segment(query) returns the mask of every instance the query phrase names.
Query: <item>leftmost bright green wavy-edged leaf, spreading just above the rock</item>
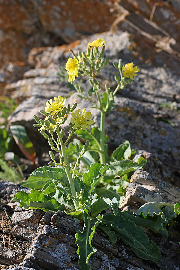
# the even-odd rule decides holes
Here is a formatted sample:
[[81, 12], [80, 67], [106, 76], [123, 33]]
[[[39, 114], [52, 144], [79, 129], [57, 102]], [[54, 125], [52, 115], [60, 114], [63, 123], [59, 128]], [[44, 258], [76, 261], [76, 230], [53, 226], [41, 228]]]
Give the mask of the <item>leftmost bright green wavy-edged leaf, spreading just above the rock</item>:
[[44, 195], [42, 191], [32, 189], [29, 193], [20, 190], [17, 192], [13, 200], [20, 202], [19, 206], [25, 209], [42, 209], [56, 212], [57, 210], [64, 211], [66, 208], [59, 204], [58, 201], [51, 196]]

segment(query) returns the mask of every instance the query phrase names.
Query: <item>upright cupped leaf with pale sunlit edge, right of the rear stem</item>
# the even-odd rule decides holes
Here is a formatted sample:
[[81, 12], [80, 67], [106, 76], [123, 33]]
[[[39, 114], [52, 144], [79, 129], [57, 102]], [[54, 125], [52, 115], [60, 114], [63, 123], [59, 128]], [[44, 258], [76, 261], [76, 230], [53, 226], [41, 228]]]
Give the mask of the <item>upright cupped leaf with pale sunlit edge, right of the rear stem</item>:
[[127, 160], [131, 157], [131, 145], [129, 141], [120, 144], [111, 155], [111, 161]]

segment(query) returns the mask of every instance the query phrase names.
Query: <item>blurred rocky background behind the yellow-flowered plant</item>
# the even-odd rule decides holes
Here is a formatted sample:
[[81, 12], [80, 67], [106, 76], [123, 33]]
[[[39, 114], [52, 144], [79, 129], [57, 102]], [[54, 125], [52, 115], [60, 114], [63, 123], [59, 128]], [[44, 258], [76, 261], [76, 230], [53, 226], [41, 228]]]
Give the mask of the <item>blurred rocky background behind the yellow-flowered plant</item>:
[[[129, 140], [132, 148], [156, 155], [169, 181], [180, 186], [179, 26], [179, 0], [1, 0], [0, 93], [19, 103], [10, 125], [26, 127], [39, 158], [47, 153], [32, 116], [40, 116], [46, 100], [58, 95], [91, 107], [76, 93], [70, 96], [57, 73], [71, 57], [69, 49], [86, 50], [86, 38], [104, 38], [110, 64], [100, 74], [102, 88], [115, 86], [112, 62], [119, 58], [141, 69], [107, 116], [110, 148]], [[85, 77], [82, 87], [88, 88]], [[92, 114], [98, 125], [99, 113]]]

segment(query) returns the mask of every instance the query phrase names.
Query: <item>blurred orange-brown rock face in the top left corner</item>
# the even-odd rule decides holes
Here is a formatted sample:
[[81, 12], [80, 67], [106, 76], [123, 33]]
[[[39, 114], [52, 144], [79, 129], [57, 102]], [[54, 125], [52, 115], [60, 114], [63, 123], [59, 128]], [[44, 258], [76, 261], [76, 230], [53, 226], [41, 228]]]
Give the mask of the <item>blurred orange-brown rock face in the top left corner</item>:
[[58, 46], [104, 32], [115, 20], [113, 1], [1, 0], [0, 66], [26, 61], [33, 47]]

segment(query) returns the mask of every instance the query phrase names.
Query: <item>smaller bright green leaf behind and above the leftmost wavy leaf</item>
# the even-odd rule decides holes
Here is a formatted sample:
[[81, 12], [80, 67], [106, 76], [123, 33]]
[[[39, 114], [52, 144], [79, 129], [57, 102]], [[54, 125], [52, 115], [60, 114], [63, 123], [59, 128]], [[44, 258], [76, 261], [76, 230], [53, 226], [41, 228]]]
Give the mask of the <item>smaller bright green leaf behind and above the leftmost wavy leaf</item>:
[[21, 182], [19, 184], [23, 187], [41, 190], [47, 182], [49, 182], [48, 177], [29, 176], [29, 178], [25, 182]]

